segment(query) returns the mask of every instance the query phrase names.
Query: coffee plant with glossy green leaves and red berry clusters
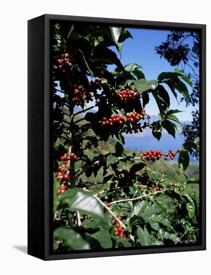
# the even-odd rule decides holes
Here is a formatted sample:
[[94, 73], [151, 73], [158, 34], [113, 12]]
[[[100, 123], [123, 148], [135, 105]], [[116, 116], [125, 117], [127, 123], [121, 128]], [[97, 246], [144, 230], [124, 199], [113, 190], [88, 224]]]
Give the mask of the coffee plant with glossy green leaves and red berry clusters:
[[[130, 37], [124, 27], [54, 24], [54, 251], [198, 241], [198, 196], [185, 191], [198, 178], [184, 174], [181, 182], [169, 181], [164, 172], [155, 178], [148, 167], [178, 155], [178, 172], [183, 173], [189, 152], [199, 151], [198, 138], [176, 151], [149, 148], [128, 155], [124, 148], [125, 134], [139, 133], [141, 142], [145, 129], [157, 140], [163, 129], [175, 137], [180, 110], [170, 109], [166, 87], [176, 100], [180, 94], [188, 102], [186, 85], [192, 87], [192, 82], [177, 68], [146, 80], [140, 65], [122, 65], [113, 48], [121, 54]], [[116, 66], [112, 72], [110, 64]], [[159, 109], [157, 121], [151, 121], [147, 111], [149, 95]], [[115, 142], [110, 152], [97, 151], [109, 140]], [[96, 152], [93, 157], [91, 151]], [[100, 180], [93, 180], [99, 174]]]

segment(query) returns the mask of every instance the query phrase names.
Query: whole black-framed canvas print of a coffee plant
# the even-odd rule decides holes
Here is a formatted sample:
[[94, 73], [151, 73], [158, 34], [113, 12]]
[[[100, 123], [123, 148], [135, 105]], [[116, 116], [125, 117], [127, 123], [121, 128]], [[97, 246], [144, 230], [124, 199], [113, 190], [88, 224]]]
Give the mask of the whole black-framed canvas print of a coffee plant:
[[205, 25], [28, 21], [28, 254], [205, 249]]

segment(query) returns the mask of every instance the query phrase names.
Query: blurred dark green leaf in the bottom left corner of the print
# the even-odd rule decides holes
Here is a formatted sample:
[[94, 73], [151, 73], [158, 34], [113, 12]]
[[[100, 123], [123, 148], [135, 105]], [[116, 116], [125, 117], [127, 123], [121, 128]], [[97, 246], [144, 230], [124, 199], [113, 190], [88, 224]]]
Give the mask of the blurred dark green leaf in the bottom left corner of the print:
[[63, 240], [63, 244], [72, 250], [90, 249], [89, 243], [86, 242], [79, 233], [73, 229], [58, 227], [53, 232], [54, 237]]

